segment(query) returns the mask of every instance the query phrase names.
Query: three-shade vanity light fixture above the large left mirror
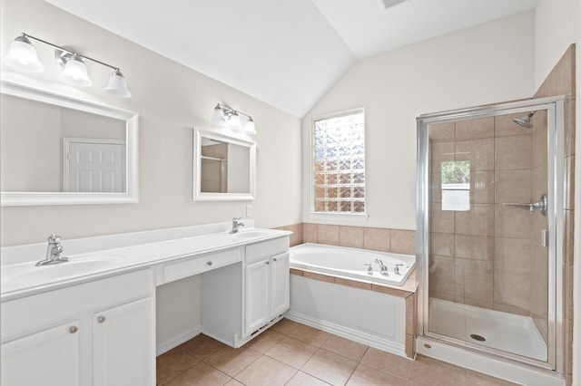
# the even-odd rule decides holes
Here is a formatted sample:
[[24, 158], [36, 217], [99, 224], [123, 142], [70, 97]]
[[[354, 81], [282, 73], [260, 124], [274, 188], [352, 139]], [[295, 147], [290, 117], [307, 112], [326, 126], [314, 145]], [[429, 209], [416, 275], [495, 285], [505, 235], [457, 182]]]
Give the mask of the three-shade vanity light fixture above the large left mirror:
[[15, 38], [15, 41], [10, 44], [10, 49], [4, 57], [4, 63], [18, 70], [43, 72], [44, 66], [38, 61], [36, 50], [30, 42], [31, 39], [55, 48], [54, 57], [64, 67], [64, 71], [59, 75], [61, 81], [73, 84], [74, 86], [86, 87], [92, 85], [93, 82], [89, 79], [87, 68], [84, 65], [84, 61], [89, 60], [113, 69], [113, 73], [109, 77], [109, 82], [105, 85], [105, 92], [119, 98], [129, 98], [131, 96], [131, 92], [127, 87], [127, 81], [125, 81], [123, 73], [119, 71], [118, 67], [103, 63], [80, 53], [75, 53], [69, 48], [46, 42], [29, 34], [22, 33]]

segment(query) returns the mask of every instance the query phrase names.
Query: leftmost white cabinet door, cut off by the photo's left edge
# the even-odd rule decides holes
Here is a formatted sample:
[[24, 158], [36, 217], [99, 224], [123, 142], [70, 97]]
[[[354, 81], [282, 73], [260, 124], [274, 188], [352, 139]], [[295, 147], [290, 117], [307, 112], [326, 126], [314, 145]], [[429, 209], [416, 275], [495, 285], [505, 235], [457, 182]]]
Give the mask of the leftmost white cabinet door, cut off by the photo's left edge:
[[3, 386], [81, 384], [79, 323], [64, 323], [2, 345]]

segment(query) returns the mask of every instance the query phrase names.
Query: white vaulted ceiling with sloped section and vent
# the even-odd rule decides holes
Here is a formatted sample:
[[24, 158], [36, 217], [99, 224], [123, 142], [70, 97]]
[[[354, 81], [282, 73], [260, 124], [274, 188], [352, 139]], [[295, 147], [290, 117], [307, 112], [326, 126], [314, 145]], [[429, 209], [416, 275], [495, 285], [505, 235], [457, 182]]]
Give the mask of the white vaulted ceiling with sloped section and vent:
[[[537, 0], [46, 0], [304, 116], [359, 59], [534, 8]], [[475, 42], [478, 43], [478, 42]]]

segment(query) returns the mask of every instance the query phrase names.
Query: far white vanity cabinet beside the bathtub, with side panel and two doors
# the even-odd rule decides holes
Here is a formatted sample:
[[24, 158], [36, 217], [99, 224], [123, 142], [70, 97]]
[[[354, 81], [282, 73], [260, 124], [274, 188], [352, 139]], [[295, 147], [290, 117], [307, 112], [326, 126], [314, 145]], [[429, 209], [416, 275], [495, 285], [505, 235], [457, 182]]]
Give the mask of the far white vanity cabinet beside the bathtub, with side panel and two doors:
[[242, 248], [241, 264], [202, 275], [202, 333], [234, 348], [290, 307], [289, 236]]

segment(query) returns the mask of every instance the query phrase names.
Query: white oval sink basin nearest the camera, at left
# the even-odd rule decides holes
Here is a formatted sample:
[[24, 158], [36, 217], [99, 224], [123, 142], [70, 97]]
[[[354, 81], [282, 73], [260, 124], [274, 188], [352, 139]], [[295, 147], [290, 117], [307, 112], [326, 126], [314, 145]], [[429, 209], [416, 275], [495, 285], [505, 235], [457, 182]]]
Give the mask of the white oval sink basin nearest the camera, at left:
[[121, 256], [90, 256], [72, 258], [71, 261], [35, 266], [34, 264], [19, 265], [4, 272], [3, 279], [11, 283], [44, 282], [45, 280], [62, 280], [77, 275], [90, 275], [98, 270], [117, 264]]

